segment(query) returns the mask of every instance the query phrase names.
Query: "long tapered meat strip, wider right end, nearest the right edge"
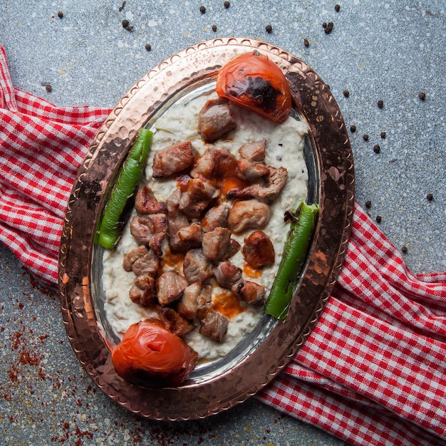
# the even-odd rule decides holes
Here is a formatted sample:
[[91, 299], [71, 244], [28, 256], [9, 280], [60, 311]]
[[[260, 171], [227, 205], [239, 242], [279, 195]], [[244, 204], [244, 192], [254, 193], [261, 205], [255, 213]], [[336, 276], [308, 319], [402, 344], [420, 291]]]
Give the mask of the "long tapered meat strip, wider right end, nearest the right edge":
[[288, 179], [288, 172], [285, 167], [269, 167], [269, 174], [266, 177], [266, 183], [256, 183], [242, 189], [230, 190], [227, 193], [228, 198], [247, 198], [254, 197], [264, 202], [272, 202], [279, 196]]

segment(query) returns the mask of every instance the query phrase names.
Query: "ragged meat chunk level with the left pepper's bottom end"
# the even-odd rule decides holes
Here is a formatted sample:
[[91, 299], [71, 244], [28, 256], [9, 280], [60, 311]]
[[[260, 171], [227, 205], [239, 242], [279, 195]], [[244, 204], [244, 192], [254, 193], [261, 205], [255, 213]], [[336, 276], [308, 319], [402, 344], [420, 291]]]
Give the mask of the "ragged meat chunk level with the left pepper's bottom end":
[[167, 233], [168, 222], [166, 214], [149, 214], [145, 217], [133, 217], [130, 222], [130, 232], [139, 244], [145, 244], [162, 256], [161, 242]]

